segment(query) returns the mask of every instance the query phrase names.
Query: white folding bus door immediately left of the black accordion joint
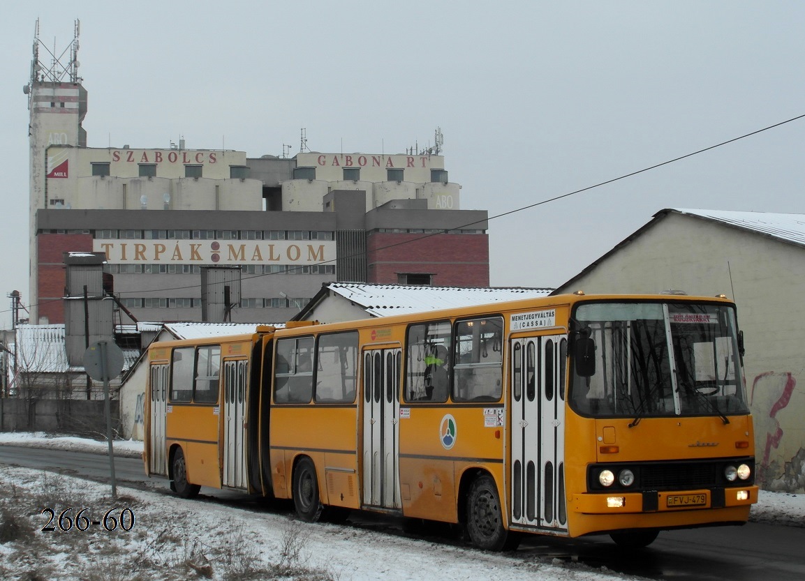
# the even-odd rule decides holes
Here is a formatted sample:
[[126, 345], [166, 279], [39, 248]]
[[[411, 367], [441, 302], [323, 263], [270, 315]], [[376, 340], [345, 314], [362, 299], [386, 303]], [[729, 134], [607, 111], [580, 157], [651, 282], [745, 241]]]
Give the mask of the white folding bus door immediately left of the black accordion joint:
[[224, 475], [222, 484], [246, 488], [246, 381], [249, 361], [224, 361]]

